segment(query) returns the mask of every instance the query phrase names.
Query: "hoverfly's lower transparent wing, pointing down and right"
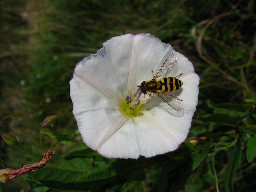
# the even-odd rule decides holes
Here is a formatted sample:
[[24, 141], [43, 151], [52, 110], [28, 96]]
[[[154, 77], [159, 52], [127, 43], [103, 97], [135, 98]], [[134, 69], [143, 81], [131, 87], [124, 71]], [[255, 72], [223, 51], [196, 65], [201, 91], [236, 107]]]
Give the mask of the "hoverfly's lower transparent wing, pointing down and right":
[[175, 110], [177, 111], [184, 110], [182, 100], [180, 100], [176, 95], [164, 93], [164, 92], [155, 92], [155, 94]]

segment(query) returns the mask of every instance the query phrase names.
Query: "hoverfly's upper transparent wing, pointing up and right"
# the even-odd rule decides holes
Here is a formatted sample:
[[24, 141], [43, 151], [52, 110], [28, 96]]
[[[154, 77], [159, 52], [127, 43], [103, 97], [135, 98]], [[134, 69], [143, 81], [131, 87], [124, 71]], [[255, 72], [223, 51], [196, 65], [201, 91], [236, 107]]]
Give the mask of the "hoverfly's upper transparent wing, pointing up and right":
[[177, 65], [177, 54], [172, 53], [167, 57], [163, 65], [158, 69], [153, 79], [163, 76], [167, 72], [171, 72], [176, 65]]

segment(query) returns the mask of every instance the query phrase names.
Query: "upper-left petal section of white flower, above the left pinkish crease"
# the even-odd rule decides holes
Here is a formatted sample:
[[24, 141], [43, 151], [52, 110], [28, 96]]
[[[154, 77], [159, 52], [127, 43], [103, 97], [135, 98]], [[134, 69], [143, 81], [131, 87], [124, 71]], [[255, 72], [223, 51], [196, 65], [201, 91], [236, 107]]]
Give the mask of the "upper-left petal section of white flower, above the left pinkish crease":
[[70, 86], [76, 84], [75, 82], [78, 79], [84, 81], [84, 85], [81, 84], [79, 87], [81, 91], [84, 87], [97, 90], [106, 99], [116, 103], [116, 105], [124, 97], [118, 77], [115, 75], [115, 71], [104, 48], [100, 49], [96, 54], [84, 58], [76, 65]]

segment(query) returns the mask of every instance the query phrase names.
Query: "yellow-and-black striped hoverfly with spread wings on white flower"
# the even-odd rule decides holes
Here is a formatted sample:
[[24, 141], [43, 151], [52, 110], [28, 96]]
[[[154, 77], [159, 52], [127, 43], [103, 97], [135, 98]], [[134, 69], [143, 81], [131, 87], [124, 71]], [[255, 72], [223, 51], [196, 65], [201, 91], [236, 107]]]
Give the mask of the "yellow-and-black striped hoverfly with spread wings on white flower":
[[[164, 63], [161, 65], [159, 70], [154, 75], [153, 79], [149, 81], [143, 81], [139, 87], [142, 93], [148, 94], [149, 97], [153, 98], [154, 95], [158, 96], [161, 100], [167, 103], [170, 107], [177, 111], [183, 111], [182, 100], [180, 100], [176, 95], [167, 93], [170, 91], [175, 91], [180, 89], [182, 86], [182, 81], [176, 77], [182, 75], [182, 73], [175, 77], [165, 77], [162, 79], [157, 79], [160, 76], [164, 76], [165, 73], [171, 72], [177, 66], [177, 54], [172, 53], [167, 57]], [[138, 90], [139, 90], [138, 89]]]

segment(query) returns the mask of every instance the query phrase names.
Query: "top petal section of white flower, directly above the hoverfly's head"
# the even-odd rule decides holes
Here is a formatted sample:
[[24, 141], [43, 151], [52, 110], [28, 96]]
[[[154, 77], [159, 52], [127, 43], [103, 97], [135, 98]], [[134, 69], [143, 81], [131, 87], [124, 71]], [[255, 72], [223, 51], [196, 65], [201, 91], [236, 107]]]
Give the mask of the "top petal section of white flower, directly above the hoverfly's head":
[[150, 34], [135, 35], [130, 64], [132, 72], [129, 73], [127, 89], [134, 93], [134, 85], [152, 79], [151, 70], [156, 72], [172, 52], [174, 51], [170, 44], [165, 44]]

